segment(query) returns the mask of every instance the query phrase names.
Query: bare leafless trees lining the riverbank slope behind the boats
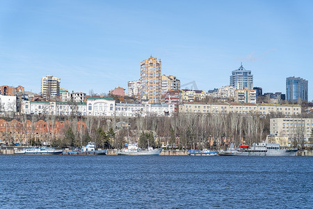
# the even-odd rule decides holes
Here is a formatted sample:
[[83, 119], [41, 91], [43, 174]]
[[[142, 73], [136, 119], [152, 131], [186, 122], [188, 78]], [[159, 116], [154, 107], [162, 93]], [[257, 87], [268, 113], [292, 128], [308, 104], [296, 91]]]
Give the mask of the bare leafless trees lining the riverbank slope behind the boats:
[[[38, 137], [34, 139], [34, 136], [30, 135], [27, 139], [28, 145], [40, 146], [45, 140], [51, 146], [65, 148], [86, 146], [89, 141], [94, 141], [98, 148], [122, 148], [126, 143], [138, 141], [142, 148], [158, 147], [162, 144], [178, 148], [218, 148], [230, 143], [238, 146], [242, 143], [252, 145], [265, 141], [266, 136], [270, 134], [270, 118], [275, 116], [179, 113], [170, 117], [138, 114], [133, 118], [22, 116], [17, 119], [25, 121], [27, 117], [30, 117], [31, 121], [43, 119], [48, 124], [53, 124], [55, 120], [70, 121], [59, 135], [48, 134], [39, 141]], [[86, 127], [80, 127], [83, 123], [77, 123], [78, 121], [86, 124]], [[118, 126], [118, 123], [125, 123], [127, 126]], [[303, 145], [303, 141], [299, 141], [304, 138], [301, 130], [293, 137], [293, 146]]]

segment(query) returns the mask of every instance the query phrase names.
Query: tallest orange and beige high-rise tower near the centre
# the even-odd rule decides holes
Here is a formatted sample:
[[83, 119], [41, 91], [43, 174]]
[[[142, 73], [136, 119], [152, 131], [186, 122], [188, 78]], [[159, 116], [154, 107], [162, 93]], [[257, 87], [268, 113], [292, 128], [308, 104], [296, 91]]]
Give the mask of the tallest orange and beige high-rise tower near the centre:
[[141, 62], [141, 99], [149, 103], [160, 103], [161, 99], [161, 60], [150, 56]]

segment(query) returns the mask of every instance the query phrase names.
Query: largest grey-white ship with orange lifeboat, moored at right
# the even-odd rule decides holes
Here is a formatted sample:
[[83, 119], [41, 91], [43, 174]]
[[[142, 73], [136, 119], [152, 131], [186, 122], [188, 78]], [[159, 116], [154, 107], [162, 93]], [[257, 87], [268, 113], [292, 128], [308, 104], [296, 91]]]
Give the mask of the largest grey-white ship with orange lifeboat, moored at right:
[[226, 151], [220, 151], [218, 155], [229, 156], [296, 156], [297, 149], [281, 149], [280, 144], [254, 143], [249, 148], [248, 145], [241, 145], [239, 148], [230, 146]]

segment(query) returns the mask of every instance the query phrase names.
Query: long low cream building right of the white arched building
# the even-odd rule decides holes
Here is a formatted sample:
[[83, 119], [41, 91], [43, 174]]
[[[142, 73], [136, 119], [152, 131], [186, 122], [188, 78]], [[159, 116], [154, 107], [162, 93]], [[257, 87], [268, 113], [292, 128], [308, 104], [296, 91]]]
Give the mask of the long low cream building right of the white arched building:
[[184, 113], [211, 113], [211, 114], [282, 114], [298, 115], [301, 113], [300, 105], [291, 104], [240, 104], [236, 102], [229, 103], [202, 103], [187, 102], [179, 104], [179, 112]]

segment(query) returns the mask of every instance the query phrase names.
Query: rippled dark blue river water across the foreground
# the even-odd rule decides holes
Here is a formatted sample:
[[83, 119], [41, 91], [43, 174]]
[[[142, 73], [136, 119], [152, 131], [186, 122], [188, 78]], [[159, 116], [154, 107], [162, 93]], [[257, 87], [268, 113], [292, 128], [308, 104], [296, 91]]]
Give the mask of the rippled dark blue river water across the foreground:
[[0, 208], [312, 208], [313, 157], [0, 155]]

